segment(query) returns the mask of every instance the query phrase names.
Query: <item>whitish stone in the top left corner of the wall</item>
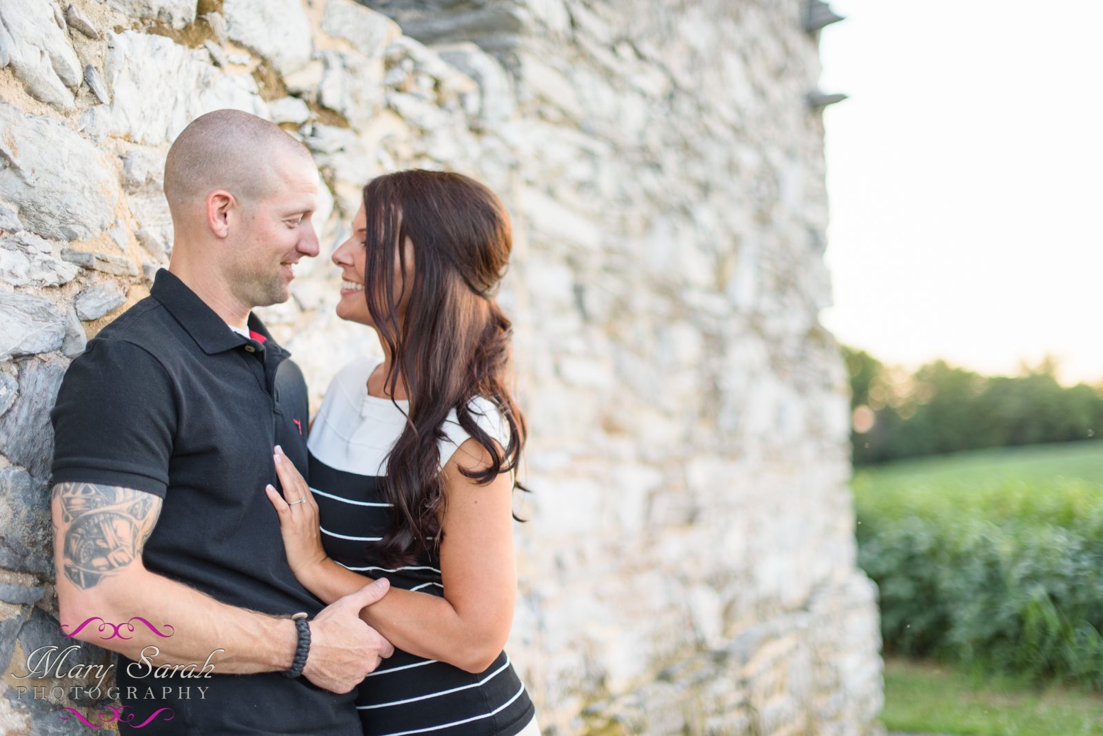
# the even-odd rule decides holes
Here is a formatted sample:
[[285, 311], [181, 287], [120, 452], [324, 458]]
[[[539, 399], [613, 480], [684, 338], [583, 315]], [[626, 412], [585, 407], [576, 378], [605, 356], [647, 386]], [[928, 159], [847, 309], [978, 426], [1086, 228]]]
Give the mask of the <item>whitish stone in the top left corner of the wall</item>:
[[32, 97], [61, 108], [74, 105], [81, 62], [54, 17], [56, 6], [42, 0], [0, 4], [0, 46]]

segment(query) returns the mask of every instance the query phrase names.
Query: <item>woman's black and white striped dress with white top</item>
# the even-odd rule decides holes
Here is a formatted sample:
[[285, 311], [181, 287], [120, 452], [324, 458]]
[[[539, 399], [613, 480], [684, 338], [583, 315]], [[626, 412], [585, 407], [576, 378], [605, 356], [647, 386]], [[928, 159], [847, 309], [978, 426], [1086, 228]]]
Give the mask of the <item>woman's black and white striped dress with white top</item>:
[[[395, 587], [443, 596], [440, 561], [422, 555], [405, 567], [384, 567], [372, 543], [390, 513], [379, 480], [386, 456], [405, 425], [407, 401], [367, 393], [367, 377], [379, 358], [362, 358], [336, 375], [310, 430], [310, 486], [318, 501], [322, 542], [339, 564]], [[489, 400], [472, 402], [472, 415], [503, 446], [508, 425]], [[468, 433], [449, 414], [441, 427], [440, 463], [448, 462]], [[395, 649], [357, 689], [356, 707], [365, 736], [441, 734], [513, 736], [534, 719], [535, 710], [503, 651], [479, 674]]]

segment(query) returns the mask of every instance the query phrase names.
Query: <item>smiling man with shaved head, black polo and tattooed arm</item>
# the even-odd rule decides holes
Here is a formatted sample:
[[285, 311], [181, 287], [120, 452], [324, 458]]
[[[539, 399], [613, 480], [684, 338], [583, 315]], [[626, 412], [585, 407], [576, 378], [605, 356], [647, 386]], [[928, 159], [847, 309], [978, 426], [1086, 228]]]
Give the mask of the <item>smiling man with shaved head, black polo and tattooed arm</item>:
[[[318, 255], [317, 193], [310, 153], [277, 126], [194, 120], [165, 161], [169, 270], [73, 361], [52, 413], [61, 624], [97, 619], [76, 638], [119, 652], [121, 719], [158, 714], [143, 734], [358, 736], [352, 691], [394, 651], [358, 617], [386, 581], [322, 608], [265, 495], [276, 445], [306, 470], [307, 392], [250, 310], [287, 301]], [[152, 671], [208, 658], [206, 678]]]

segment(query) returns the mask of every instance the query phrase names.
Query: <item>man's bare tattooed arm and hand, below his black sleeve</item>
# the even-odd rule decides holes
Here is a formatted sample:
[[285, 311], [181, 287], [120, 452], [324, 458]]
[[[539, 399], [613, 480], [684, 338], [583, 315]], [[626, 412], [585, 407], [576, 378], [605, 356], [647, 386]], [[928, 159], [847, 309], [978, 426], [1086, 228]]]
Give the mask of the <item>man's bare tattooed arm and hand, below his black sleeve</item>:
[[[219, 674], [282, 671], [291, 665], [298, 635], [295, 624], [219, 603], [182, 583], [158, 575], [141, 561], [142, 548], [157, 524], [161, 499], [152, 494], [90, 483], [54, 486], [54, 563], [57, 566], [60, 619], [66, 631], [98, 618], [122, 624], [141, 616], [154, 625], [172, 624], [169, 638], [143, 626], [124, 629], [131, 638], [111, 637], [93, 620], [75, 636], [138, 660], [154, 645], [161, 664], [202, 665], [211, 662]], [[311, 647], [303, 674], [314, 684], [349, 692], [389, 656], [390, 645], [357, 618], [363, 606], [382, 597], [385, 588], [368, 586], [346, 596], [311, 621]], [[365, 671], [365, 662], [371, 668]]]

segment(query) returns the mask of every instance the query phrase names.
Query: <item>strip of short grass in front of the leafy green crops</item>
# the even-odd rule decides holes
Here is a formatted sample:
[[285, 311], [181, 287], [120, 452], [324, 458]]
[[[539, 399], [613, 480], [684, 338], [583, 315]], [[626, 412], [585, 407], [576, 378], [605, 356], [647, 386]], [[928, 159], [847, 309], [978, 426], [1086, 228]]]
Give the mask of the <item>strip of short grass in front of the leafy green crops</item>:
[[889, 658], [881, 721], [890, 732], [906, 733], [1103, 736], [1103, 694]]

